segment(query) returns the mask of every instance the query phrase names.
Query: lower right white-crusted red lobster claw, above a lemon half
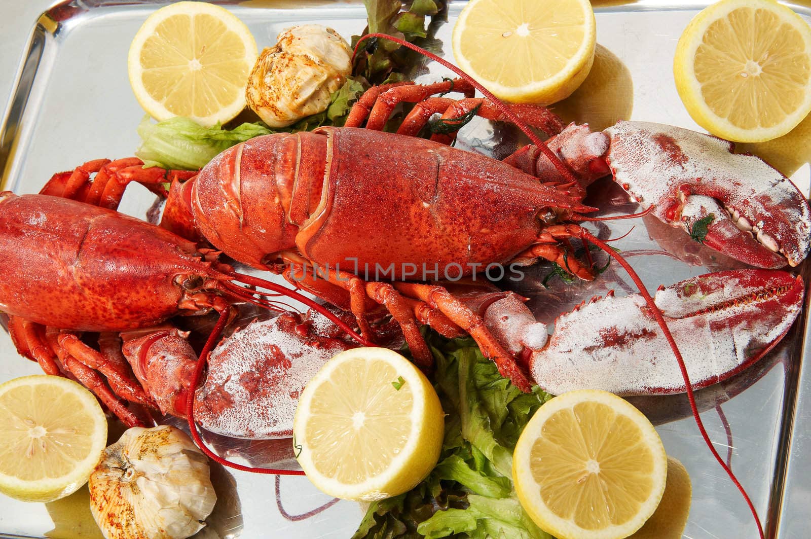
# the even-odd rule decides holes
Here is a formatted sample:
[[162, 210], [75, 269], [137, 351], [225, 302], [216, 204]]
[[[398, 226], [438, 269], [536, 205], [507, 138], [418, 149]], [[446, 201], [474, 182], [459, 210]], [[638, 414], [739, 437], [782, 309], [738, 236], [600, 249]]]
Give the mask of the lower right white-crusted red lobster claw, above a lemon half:
[[[799, 276], [779, 270], [732, 270], [660, 287], [655, 302], [679, 346], [693, 389], [710, 386], [749, 367], [779, 343], [803, 303]], [[494, 308], [503, 308], [496, 302]], [[516, 305], [513, 305], [513, 308]], [[511, 315], [510, 332], [537, 333], [534, 319]], [[486, 319], [487, 320], [487, 319]], [[491, 321], [496, 320], [490, 317]], [[516, 327], [518, 326], [518, 327]], [[676, 358], [641, 295], [608, 294], [555, 321], [546, 343], [531, 339], [530, 373], [543, 390], [560, 395], [600, 389], [618, 395], [682, 393]]]

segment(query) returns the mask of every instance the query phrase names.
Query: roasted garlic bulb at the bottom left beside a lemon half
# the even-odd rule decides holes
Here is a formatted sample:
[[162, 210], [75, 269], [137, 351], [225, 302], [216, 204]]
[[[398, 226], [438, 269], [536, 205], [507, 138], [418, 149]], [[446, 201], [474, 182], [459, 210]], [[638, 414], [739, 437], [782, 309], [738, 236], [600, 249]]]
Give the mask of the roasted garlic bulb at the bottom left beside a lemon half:
[[128, 429], [105, 449], [88, 485], [106, 539], [185, 539], [217, 502], [208, 459], [169, 425]]

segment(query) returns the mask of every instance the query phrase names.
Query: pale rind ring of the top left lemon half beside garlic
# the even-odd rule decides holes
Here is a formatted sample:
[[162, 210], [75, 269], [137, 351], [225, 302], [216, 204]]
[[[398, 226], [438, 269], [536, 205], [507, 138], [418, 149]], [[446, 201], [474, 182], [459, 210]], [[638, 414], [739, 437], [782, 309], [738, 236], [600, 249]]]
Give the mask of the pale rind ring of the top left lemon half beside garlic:
[[[131, 44], [130, 50], [127, 53], [127, 74], [130, 79], [130, 86], [135, 99], [138, 100], [139, 105], [150, 115], [158, 121], [174, 118], [174, 114], [168, 110], [161, 101], [157, 101], [149, 95], [144, 84], [141, 81], [143, 69], [140, 66], [139, 55], [140, 50], [144, 46], [144, 42], [152, 36], [158, 24], [161, 24], [165, 19], [172, 15], [197, 15], [200, 13], [208, 14], [217, 17], [225, 27], [233, 31], [242, 39], [245, 45], [245, 63], [247, 63], [250, 72], [259, 57], [259, 50], [256, 47], [256, 41], [251, 34], [250, 29], [243, 23], [236, 15], [226, 10], [223, 7], [215, 6], [204, 2], [177, 2], [169, 6], [162, 7], [160, 10], [155, 11], [152, 15], [144, 21], [139, 31], [135, 34]], [[245, 78], [245, 86], [247, 86], [247, 75]], [[216, 123], [225, 123], [230, 119], [234, 119], [237, 114], [247, 106], [245, 97], [245, 87], [236, 93], [237, 98], [229, 105], [221, 107], [215, 114], [208, 116], [195, 116], [194, 114], [187, 115], [187, 118], [194, 120], [200, 125], [210, 127]]]

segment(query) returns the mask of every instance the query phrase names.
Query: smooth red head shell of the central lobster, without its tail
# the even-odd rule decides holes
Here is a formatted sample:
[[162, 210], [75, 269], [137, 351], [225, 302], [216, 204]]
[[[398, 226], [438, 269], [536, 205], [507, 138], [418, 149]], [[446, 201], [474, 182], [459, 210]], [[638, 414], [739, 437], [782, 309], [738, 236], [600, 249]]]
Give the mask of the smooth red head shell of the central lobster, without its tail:
[[470, 274], [530, 245], [542, 209], [590, 209], [503, 162], [431, 140], [352, 127], [319, 132], [331, 141], [326, 204], [296, 238], [312, 261], [393, 264], [394, 278], [405, 264], [440, 272], [457, 264]]

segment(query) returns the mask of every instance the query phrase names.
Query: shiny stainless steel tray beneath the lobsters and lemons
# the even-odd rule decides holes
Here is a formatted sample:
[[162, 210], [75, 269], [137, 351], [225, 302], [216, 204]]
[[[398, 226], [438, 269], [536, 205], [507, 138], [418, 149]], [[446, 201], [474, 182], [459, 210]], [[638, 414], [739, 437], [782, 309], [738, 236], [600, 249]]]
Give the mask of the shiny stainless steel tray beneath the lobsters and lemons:
[[[594, 127], [630, 117], [698, 129], [676, 94], [672, 58], [680, 32], [706, 3], [594, 2], [598, 41], [609, 52], [595, 64], [590, 82], [602, 91], [593, 93], [593, 101], [575, 97], [558, 110], [570, 116], [575, 111], [578, 121], [590, 121]], [[451, 2], [448, 23], [436, 33], [449, 59], [451, 29], [463, 4]], [[160, 5], [74, 0], [41, 16], [0, 130], [2, 188], [36, 192], [55, 171], [92, 158], [133, 153], [139, 144], [135, 127], [144, 113], [127, 82], [127, 49], [139, 25]], [[789, 5], [811, 21], [811, 9]], [[366, 17], [359, 2], [257, 0], [233, 2], [230, 9], [248, 24], [260, 47], [272, 45], [277, 33], [292, 24], [326, 24], [348, 39], [363, 30]], [[445, 72], [429, 65], [418, 74], [420, 80], [437, 80]], [[597, 80], [598, 76], [603, 78]], [[809, 133], [811, 119], [794, 136], [811, 142]], [[492, 134], [489, 123], [477, 120], [462, 142], [487, 149]], [[792, 179], [808, 195], [808, 155], [781, 154], [774, 146], [754, 150], [792, 169]], [[131, 191], [121, 209], [143, 217], [152, 196], [139, 188]], [[614, 210], [630, 208], [620, 205]], [[649, 236], [656, 233], [655, 223], [618, 223], [610, 225], [611, 236], [636, 225], [616, 246], [632, 256], [649, 289], [706, 272], [701, 265], [664, 256]], [[710, 266], [729, 267], [720, 260], [710, 261]], [[808, 268], [804, 264], [799, 269], [806, 279]], [[548, 267], [534, 271], [540, 278]], [[538, 281], [526, 282], [522, 292], [530, 295], [543, 319], [553, 319], [581, 297], [609, 287], [631, 289], [625, 276], [613, 270], [590, 286], [558, 282], [551, 292], [543, 291]], [[802, 361], [811, 347], [805, 338], [806, 311], [783, 343], [759, 364], [698, 393], [710, 437], [749, 491], [770, 537], [808, 537], [811, 524], [811, 485], [805, 478], [811, 471], [811, 374]], [[17, 356], [10, 339], [0, 332], [0, 382], [38, 372], [36, 364]], [[703, 445], [686, 399], [646, 398], [634, 403], [658, 425], [668, 454], [684, 463], [693, 480], [693, 506], [684, 537], [756, 537], [740, 494]], [[363, 515], [357, 504], [334, 502], [304, 477], [255, 476], [221, 468], [214, 474], [221, 501], [212, 525], [200, 537], [350, 537]], [[86, 507], [86, 498], [80, 497], [72, 499]], [[88, 511], [71, 508], [70, 502], [46, 507], [0, 495], [2, 537], [101, 537], [92, 535], [87, 518]]]

